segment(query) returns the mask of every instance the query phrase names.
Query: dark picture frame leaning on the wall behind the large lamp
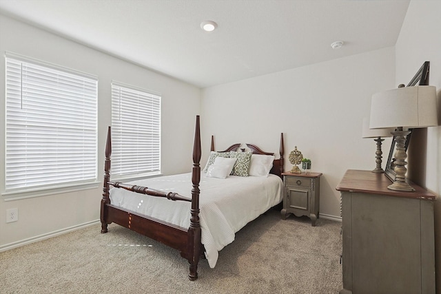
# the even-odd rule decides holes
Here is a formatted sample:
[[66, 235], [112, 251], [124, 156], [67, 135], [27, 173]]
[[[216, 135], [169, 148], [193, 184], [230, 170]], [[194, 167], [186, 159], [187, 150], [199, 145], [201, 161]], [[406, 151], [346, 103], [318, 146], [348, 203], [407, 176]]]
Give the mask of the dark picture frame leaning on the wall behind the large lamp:
[[[413, 76], [411, 81], [407, 84], [406, 87], [413, 87], [414, 85], [427, 86], [429, 85], [429, 69], [430, 69], [430, 61], [424, 61], [421, 65], [420, 70]], [[404, 149], [407, 151], [407, 147], [409, 147], [409, 142], [412, 136], [412, 129], [409, 129], [410, 134], [406, 137], [406, 143], [404, 145]], [[393, 170], [395, 165], [395, 158], [393, 158], [393, 154], [396, 151], [396, 137], [393, 136], [391, 149], [389, 150], [389, 156], [387, 158], [386, 168], [384, 169], [384, 174], [389, 178], [392, 182], [395, 181], [396, 173]]]

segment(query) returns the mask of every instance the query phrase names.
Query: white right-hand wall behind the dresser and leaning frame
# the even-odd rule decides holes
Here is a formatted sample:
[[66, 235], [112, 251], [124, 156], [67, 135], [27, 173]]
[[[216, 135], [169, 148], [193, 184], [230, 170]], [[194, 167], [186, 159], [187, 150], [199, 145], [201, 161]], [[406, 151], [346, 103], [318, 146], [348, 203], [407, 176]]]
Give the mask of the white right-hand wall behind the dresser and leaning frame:
[[[430, 85], [437, 88], [438, 125], [441, 123], [441, 1], [412, 0], [396, 43], [396, 84], [408, 83], [424, 61], [430, 61]], [[412, 135], [413, 137], [413, 135]], [[420, 130], [420, 145], [409, 150], [411, 180], [438, 198], [441, 193], [441, 127]], [[411, 140], [411, 144], [413, 144]], [[418, 153], [417, 153], [418, 151]], [[412, 153], [413, 152], [413, 153]], [[420, 158], [415, 161], [412, 156]], [[435, 202], [436, 293], [441, 293], [441, 203]]]

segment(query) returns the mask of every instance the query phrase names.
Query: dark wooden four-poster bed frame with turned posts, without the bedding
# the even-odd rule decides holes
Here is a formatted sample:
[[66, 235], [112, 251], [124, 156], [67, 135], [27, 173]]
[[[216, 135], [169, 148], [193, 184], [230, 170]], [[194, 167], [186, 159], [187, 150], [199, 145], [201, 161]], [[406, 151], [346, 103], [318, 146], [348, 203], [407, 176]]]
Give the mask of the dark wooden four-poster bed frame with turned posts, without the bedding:
[[[271, 174], [276, 174], [281, 177], [283, 173], [283, 134], [280, 135], [280, 159], [273, 162]], [[236, 151], [240, 144], [234, 144], [228, 147], [227, 151]], [[256, 145], [247, 144], [247, 147], [253, 154], [274, 155], [262, 151]], [[212, 136], [212, 151], [214, 151], [214, 138]], [[201, 134], [199, 116], [196, 116], [196, 127], [194, 132], [193, 145], [193, 168], [192, 168], [192, 198], [179, 195], [178, 193], [164, 193], [148, 187], [141, 187], [136, 185], [126, 185], [121, 182], [110, 182], [110, 156], [112, 154], [111, 129], [107, 129], [107, 141], [105, 146], [105, 165], [104, 165], [104, 180], [103, 180], [103, 198], [101, 200], [101, 233], [107, 233], [107, 224], [112, 222], [119, 224], [127, 229], [136, 231], [142, 235], [147, 236], [161, 242], [167, 246], [177, 249], [181, 252], [181, 256], [189, 262], [189, 280], [196, 280], [198, 278], [197, 268], [198, 262], [203, 256], [203, 244], [201, 243], [201, 225], [199, 222], [199, 182], [201, 180]], [[143, 193], [149, 196], [156, 196], [167, 198], [169, 200], [179, 200], [191, 202], [190, 209], [190, 225], [189, 228], [183, 228], [170, 224], [157, 218], [136, 213], [129, 209], [117, 207], [110, 202], [110, 185], [116, 188], [122, 188], [135, 193]]]

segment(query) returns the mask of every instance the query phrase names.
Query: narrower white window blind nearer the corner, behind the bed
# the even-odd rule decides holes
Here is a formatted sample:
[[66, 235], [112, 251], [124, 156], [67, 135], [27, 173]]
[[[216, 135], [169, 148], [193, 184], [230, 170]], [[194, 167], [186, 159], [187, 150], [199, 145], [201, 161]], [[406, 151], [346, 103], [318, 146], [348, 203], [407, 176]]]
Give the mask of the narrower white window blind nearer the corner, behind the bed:
[[161, 96], [112, 83], [112, 177], [161, 172]]

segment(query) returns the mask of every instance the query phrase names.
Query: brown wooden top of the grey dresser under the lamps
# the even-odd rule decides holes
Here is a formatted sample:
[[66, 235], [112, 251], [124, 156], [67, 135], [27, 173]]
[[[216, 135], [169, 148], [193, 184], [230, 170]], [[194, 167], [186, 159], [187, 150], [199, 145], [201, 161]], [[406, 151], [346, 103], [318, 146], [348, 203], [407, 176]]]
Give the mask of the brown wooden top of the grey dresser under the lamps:
[[387, 186], [391, 184], [391, 180], [389, 180], [389, 178], [383, 173], [348, 169], [336, 189], [342, 192], [382, 194], [393, 197], [427, 200], [436, 199], [436, 196], [433, 195], [433, 193], [429, 193], [429, 191], [413, 184], [413, 182], [409, 182], [409, 185], [415, 189], [413, 192], [393, 191], [387, 189]]

